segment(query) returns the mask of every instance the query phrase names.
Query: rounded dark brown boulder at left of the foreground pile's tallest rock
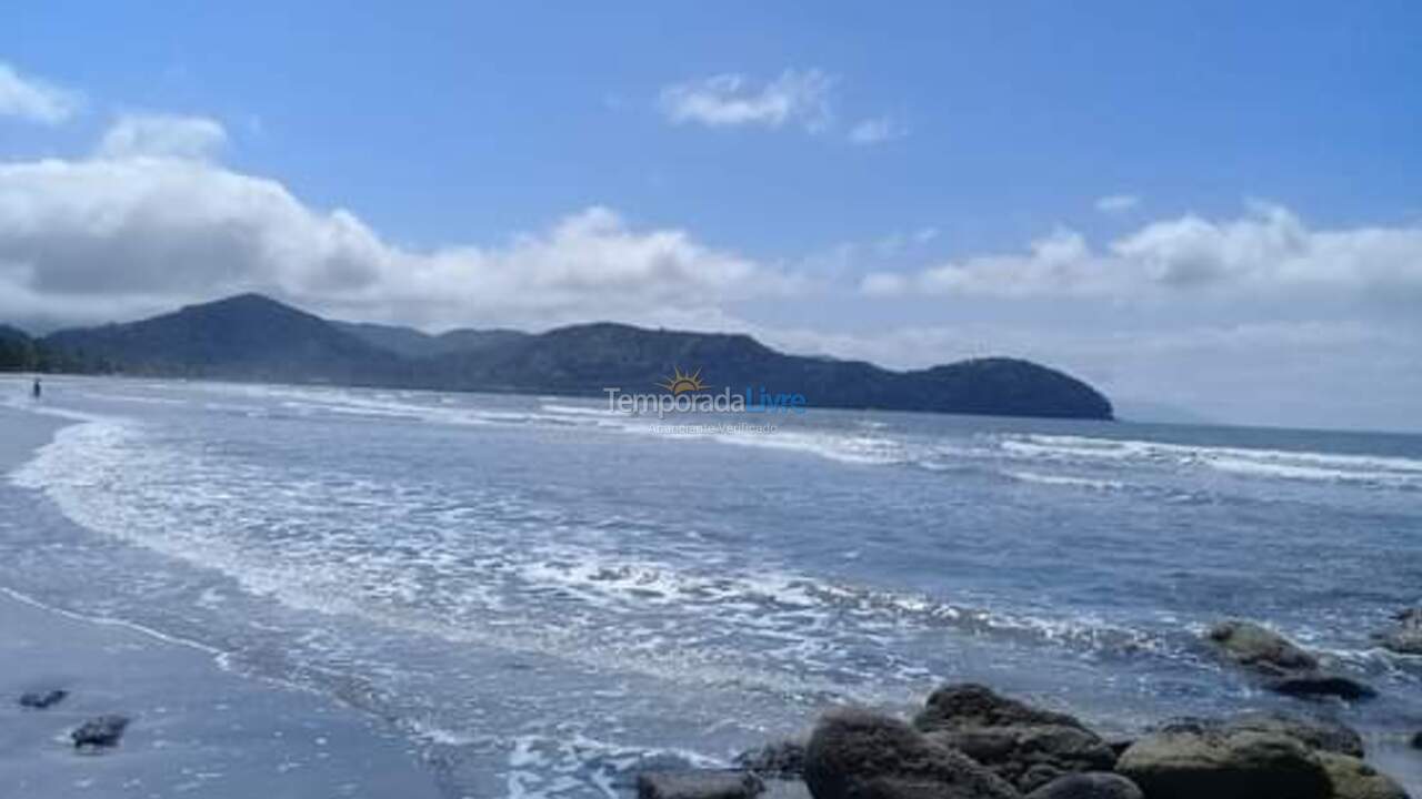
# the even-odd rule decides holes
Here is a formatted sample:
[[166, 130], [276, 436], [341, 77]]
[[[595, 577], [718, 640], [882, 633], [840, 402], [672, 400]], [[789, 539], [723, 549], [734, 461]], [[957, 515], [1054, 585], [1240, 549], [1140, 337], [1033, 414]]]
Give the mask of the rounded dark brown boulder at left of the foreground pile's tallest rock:
[[865, 709], [825, 714], [805, 748], [815, 799], [1017, 799], [1011, 785], [967, 755]]

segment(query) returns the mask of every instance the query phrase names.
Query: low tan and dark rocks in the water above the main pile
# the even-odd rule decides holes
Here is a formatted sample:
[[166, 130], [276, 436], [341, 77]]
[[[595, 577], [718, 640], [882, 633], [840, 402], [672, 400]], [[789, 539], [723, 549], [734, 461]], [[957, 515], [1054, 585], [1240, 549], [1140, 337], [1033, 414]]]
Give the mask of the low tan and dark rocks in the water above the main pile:
[[1376, 695], [1357, 680], [1324, 671], [1317, 657], [1261, 624], [1230, 620], [1212, 627], [1206, 637], [1227, 658], [1264, 678], [1270, 691], [1303, 698]]

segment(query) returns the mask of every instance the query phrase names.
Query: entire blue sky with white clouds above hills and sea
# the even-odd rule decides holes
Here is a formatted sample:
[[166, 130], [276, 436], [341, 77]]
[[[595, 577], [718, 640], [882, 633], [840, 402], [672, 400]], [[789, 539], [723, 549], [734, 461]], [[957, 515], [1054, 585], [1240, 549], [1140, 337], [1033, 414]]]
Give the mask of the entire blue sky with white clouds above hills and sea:
[[1419, 80], [1411, 1], [33, 4], [0, 320], [257, 290], [1419, 431]]

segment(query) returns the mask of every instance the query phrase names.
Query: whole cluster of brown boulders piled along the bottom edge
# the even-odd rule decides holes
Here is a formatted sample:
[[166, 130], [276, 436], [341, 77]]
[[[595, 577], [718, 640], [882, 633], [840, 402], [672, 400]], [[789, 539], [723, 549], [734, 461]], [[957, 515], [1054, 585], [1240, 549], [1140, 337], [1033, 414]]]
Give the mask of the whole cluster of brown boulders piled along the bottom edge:
[[[1295, 660], [1281, 640], [1264, 643]], [[1284, 641], [1287, 644], [1287, 641]], [[1311, 657], [1311, 655], [1310, 655]], [[1119, 755], [1119, 756], [1118, 756]], [[863, 708], [806, 744], [747, 752], [741, 771], [643, 775], [643, 799], [1406, 799], [1335, 721], [1250, 712], [1182, 718], [1111, 744], [1081, 719], [944, 685], [913, 724]], [[700, 776], [698, 776], [700, 775]]]

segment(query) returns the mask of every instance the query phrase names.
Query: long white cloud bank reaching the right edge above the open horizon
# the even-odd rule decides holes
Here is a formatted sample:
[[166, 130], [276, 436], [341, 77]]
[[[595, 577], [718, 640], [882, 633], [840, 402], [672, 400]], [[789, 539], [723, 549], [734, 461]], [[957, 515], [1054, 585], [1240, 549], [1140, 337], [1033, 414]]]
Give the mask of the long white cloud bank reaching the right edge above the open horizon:
[[866, 294], [1140, 296], [1210, 291], [1422, 293], [1422, 226], [1310, 229], [1277, 205], [1237, 219], [1152, 222], [1094, 249], [1058, 229], [1024, 253], [973, 256], [917, 273], [872, 273]]

